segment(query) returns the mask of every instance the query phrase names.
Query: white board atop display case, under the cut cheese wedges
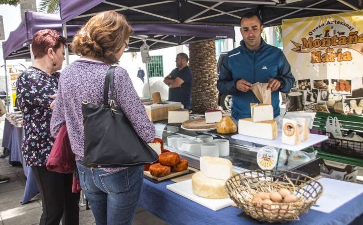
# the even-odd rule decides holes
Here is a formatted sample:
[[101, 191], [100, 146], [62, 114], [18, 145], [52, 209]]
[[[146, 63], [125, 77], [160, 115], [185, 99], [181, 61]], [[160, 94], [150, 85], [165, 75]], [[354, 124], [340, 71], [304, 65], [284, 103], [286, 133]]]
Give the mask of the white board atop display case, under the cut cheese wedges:
[[248, 142], [252, 142], [252, 143], [256, 143], [256, 144], [261, 144], [261, 145], [268, 145], [268, 146], [272, 146], [275, 148], [283, 148], [283, 149], [291, 150], [291, 151], [300, 151], [302, 149], [308, 148], [312, 145], [315, 145], [317, 143], [320, 143], [320, 142], [328, 139], [328, 136], [326, 136], [326, 135], [309, 134], [309, 140], [301, 142], [297, 145], [288, 145], [288, 144], [284, 144], [281, 142], [281, 137], [282, 137], [281, 132], [282, 132], [282, 130], [277, 131], [277, 138], [275, 138], [274, 140], [255, 138], [255, 137], [250, 137], [250, 136], [241, 135], [241, 134], [235, 134], [232, 136], [232, 138], [237, 139], [237, 140], [242, 140], [242, 141], [248, 141]]

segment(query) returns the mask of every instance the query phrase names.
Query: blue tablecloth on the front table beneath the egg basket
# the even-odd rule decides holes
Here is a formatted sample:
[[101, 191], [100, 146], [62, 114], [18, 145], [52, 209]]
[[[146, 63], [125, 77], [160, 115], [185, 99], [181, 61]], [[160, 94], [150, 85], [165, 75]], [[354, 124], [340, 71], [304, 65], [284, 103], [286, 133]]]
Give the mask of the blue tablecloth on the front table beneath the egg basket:
[[[155, 184], [144, 179], [140, 206], [170, 224], [259, 224], [256, 220], [237, 216], [241, 209], [229, 206], [213, 211], [166, 189], [172, 184]], [[363, 224], [363, 194], [331, 213], [310, 210], [300, 220], [285, 224]], [[265, 223], [270, 224], [270, 223]]]

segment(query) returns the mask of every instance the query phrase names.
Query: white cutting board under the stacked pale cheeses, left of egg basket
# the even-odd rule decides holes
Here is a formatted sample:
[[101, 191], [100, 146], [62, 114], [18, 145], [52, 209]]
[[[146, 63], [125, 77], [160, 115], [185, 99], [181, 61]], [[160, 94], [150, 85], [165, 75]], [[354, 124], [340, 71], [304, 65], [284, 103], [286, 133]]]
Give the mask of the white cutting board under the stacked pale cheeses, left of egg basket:
[[230, 198], [209, 199], [195, 195], [192, 189], [192, 179], [166, 185], [166, 189], [175, 192], [176, 194], [179, 194], [185, 198], [188, 198], [189, 200], [195, 201], [198, 204], [201, 204], [214, 211], [230, 206], [233, 203]]

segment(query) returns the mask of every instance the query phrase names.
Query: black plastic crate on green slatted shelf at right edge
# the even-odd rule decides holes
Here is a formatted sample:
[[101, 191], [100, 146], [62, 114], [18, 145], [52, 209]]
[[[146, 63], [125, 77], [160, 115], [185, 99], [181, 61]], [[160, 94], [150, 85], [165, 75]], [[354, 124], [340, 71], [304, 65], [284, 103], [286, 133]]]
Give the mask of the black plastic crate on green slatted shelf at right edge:
[[341, 155], [363, 158], [363, 142], [334, 138], [331, 133], [326, 132], [329, 137], [323, 142], [322, 149]]

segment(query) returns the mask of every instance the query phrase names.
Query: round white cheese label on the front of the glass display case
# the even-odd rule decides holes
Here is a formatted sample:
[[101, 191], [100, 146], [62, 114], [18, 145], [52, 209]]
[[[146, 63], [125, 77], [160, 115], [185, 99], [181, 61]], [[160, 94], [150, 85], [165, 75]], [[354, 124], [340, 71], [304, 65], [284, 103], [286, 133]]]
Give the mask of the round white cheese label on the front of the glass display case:
[[264, 146], [257, 152], [256, 159], [262, 170], [273, 170], [277, 163], [277, 151], [274, 147]]

